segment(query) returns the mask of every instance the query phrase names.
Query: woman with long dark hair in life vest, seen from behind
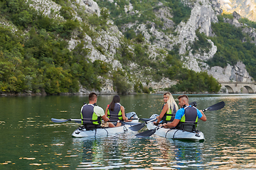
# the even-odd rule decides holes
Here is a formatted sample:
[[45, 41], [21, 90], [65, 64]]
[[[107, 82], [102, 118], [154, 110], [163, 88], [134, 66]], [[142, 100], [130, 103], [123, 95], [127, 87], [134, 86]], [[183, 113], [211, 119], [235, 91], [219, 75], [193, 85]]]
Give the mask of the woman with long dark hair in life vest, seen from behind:
[[125, 116], [124, 113], [124, 107], [121, 106], [120, 97], [118, 95], [113, 97], [112, 102], [110, 105], [107, 106], [105, 115], [107, 118], [110, 118], [110, 121], [117, 121], [117, 125], [115, 126], [113, 123], [109, 123], [109, 127], [117, 127], [122, 125], [122, 123], [119, 123], [119, 120], [129, 121], [128, 118]]

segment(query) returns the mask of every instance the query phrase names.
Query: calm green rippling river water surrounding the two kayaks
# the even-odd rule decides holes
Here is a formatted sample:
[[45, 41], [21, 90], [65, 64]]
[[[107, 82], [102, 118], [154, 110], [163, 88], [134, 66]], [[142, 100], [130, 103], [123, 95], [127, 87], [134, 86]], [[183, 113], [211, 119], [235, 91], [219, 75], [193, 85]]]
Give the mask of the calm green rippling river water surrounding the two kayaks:
[[[99, 96], [97, 104], [105, 110], [112, 97]], [[256, 95], [189, 98], [199, 109], [225, 102], [219, 111], [206, 111], [206, 122], [199, 120], [203, 143], [140, 139], [137, 132], [73, 138], [78, 124], [50, 118], [80, 118], [87, 96], [0, 97], [0, 169], [256, 169]], [[121, 96], [120, 103], [149, 118], [160, 113], [163, 96]]]

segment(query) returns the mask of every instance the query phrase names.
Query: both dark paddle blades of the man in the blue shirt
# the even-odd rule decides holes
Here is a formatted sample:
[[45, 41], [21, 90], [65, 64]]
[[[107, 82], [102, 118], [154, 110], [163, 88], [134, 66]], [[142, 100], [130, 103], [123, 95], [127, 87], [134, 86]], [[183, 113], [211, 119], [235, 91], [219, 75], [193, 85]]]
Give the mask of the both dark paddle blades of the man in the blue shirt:
[[[203, 112], [205, 112], [205, 111], [217, 111], [217, 110], [223, 108], [224, 106], [225, 106], [224, 101], [220, 101], [219, 103], [216, 103], [213, 106], [210, 106], [206, 109], [203, 109], [202, 111]], [[138, 133], [135, 136], [136, 137], [150, 137], [151, 135], [153, 135], [156, 132], [156, 130], [159, 130], [159, 128], [162, 128], [162, 126], [161, 127], [158, 126], [158, 127], [154, 128], [154, 129], [151, 129], [151, 130], [146, 130], [144, 132]]]

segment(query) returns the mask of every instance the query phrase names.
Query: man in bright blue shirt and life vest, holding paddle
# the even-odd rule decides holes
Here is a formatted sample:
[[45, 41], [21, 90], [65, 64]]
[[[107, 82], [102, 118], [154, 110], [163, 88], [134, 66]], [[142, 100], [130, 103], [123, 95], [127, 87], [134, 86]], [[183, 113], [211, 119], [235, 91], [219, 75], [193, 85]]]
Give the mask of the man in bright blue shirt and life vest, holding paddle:
[[185, 94], [178, 96], [178, 105], [181, 106], [176, 112], [174, 121], [164, 123], [164, 128], [176, 128], [186, 131], [196, 130], [198, 118], [206, 121], [206, 115], [196, 107], [188, 104], [188, 96]]

